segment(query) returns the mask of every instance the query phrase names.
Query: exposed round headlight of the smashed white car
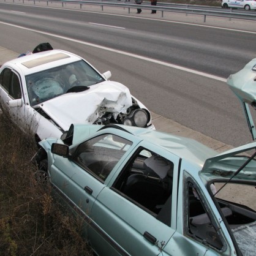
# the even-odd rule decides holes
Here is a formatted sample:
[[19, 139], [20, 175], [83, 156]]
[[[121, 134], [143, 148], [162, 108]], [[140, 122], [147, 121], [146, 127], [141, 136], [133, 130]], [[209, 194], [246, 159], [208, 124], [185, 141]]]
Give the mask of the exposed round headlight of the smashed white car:
[[145, 127], [148, 123], [148, 113], [140, 108], [132, 111], [129, 116], [124, 118], [124, 125]]

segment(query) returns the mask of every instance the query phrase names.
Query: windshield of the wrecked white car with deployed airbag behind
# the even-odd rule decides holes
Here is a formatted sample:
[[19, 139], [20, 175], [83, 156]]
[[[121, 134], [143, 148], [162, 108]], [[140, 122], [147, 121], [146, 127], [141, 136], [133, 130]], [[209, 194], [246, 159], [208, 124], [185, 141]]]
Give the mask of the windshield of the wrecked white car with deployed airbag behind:
[[69, 92], [85, 91], [102, 81], [100, 73], [82, 60], [26, 76], [31, 106]]

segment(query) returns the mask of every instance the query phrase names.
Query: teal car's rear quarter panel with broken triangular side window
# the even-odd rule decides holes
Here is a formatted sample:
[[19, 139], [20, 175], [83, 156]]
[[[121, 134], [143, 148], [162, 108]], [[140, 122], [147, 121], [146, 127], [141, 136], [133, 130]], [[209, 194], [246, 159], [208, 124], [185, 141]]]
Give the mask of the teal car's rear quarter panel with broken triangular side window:
[[[214, 188], [210, 189], [214, 193]], [[183, 163], [177, 201], [176, 233], [167, 249], [174, 250], [175, 255], [240, 255], [198, 171]]]

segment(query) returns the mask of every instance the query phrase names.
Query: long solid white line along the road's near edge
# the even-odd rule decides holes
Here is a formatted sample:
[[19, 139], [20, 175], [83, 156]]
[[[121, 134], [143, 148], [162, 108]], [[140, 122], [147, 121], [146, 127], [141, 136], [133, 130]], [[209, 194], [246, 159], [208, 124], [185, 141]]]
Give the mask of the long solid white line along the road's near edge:
[[69, 40], [71, 42], [81, 43], [83, 45], [88, 45], [88, 46], [91, 46], [91, 47], [100, 48], [102, 50], [112, 51], [112, 52], [115, 52], [115, 53], [119, 53], [121, 55], [126, 55], [126, 56], [130, 56], [130, 57], [137, 58], [137, 59], [143, 59], [144, 61], [149, 61], [149, 62], [153, 62], [153, 63], [156, 63], [156, 64], [160, 64], [162, 66], [171, 67], [173, 69], [178, 69], [178, 70], [183, 70], [185, 72], [194, 73], [195, 75], [200, 75], [202, 77], [208, 77], [208, 78], [212, 78], [214, 80], [224, 81], [224, 82], [227, 81], [227, 78], [217, 77], [216, 75], [211, 75], [209, 73], [201, 72], [201, 71], [194, 70], [194, 69], [189, 69], [187, 67], [178, 66], [178, 65], [171, 64], [171, 63], [164, 62], [164, 61], [159, 61], [157, 59], [151, 59], [151, 58], [148, 58], [148, 57], [145, 57], [145, 56], [135, 55], [133, 53], [128, 53], [126, 51], [116, 50], [116, 49], [109, 48], [109, 47], [103, 47], [101, 45], [96, 45], [95, 43], [84, 42], [84, 41], [81, 41], [81, 40], [72, 39], [70, 37], [58, 36], [56, 34], [51, 34], [51, 33], [48, 33], [48, 32], [43, 32], [43, 31], [39, 31], [39, 30], [36, 30], [36, 29], [31, 29], [31, 28], [25, 28], [23, 26], [18, 26], [18, 25], [14, 25], [14, 24], [2, 22], [2, 21], [0, 21], [0, 24], [6, 24], [7, 26], [13, 26], [15, 28], [25, 29], [25, 30], [36, 32], [36, 33], [43, 34], [43, 35], [57, 37], [59, 39], [64, 39], [64, 40]]

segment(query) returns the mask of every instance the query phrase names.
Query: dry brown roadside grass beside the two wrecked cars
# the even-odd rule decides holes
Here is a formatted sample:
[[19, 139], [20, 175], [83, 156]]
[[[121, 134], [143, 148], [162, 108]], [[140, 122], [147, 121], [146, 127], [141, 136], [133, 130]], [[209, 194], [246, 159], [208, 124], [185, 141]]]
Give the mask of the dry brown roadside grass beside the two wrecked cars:
[[92, 255], [81, 220], [36, 183], [36, 145], [0, 114], [0, 254]]

